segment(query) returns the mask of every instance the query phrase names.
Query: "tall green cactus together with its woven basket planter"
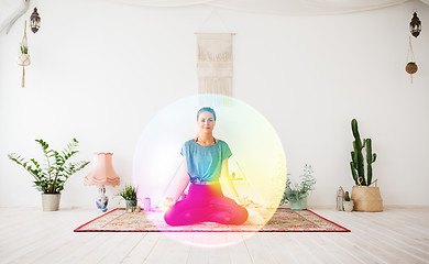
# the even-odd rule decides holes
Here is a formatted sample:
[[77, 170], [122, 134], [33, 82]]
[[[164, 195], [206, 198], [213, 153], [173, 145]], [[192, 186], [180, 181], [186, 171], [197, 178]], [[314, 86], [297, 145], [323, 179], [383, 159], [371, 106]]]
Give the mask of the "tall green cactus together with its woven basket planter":
[[[352, 188], [351, 199], [354, 201], [354, 210], [356, 211], [383, 211], [383, 200], [380, 194], [380, 188], [371, 186], [376, 183], [373, 182], [373, 168], [372, 164], [375, 162], [377, 155], [372, 153], [371, 139], [364, 139], [361, 141], [361, 136], [358, 130], [358, 121], [352, 120], [352, 132], [354, 136], [353, 151], [351, 152], [352, 161], [350, 162], [350, 168], [355, 185]], [[366, 176], [364, 157], [362, 151], [366, 151]]]

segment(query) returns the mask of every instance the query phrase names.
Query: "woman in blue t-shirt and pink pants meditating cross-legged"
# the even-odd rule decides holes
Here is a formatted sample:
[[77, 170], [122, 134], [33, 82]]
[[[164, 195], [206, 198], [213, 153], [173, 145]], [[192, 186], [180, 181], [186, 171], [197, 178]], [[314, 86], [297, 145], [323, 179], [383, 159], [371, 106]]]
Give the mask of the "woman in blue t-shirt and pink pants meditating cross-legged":
[[[219, 183], [228, 188], [235, 200], [242, 202], [228, 172], [228, 158], [232, 155], [224, 141], [213, 138], [216, 113], [211, 108], [201, 108], [197, 113], [199, 135], [182, 147], [185, 170], [180, 175], [176, 195], [167, 198], [174, 204], [164, 215], [169, 226], [185, 226], [199, 222], [241, 224], [248, 220], [244, 207], [233, 199], [224, 197]], [[186, 187], [188, 196], [178, 200]]]

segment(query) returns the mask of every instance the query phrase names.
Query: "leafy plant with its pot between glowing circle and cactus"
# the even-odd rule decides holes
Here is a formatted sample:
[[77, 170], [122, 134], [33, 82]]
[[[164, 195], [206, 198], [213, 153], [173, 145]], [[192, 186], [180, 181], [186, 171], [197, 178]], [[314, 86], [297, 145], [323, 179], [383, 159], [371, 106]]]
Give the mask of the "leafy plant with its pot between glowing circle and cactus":
[[304, 174], [300, 175], [300, 183], [292, 184], [290, 178], [286, 179], [285, 191], [280, 204], [289, 201], [289, 208], [293, 210], [307, 209], [307, 197], [315, 189], [316, 178], [311, 175], [314, 169], [311, 165], [304, 166]]

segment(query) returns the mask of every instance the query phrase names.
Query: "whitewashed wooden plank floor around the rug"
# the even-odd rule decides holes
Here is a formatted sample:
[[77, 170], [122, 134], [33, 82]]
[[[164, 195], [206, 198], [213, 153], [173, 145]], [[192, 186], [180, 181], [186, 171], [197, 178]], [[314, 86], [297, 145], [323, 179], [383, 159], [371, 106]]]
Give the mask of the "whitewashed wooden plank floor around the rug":
[[161, 232], [74, 233], [96, 209], [0, 210], [0, 263], [429, 263], [429, 208], [384, 212], [312, 209], [349, 233], [179, 233], [194, 241], [233, 245], [200, 248]]

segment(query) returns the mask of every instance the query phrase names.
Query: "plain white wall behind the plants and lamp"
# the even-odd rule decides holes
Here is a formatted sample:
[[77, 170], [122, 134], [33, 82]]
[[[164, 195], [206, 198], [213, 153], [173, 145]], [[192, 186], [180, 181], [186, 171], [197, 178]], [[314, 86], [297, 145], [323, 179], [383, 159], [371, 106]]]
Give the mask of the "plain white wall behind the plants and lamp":
[[[417, 3], [425, 25], [429, 7]], [[140, 134], [165, 106], [196, 94], [194, 32], [223, 30], [211, 8], [141, 8], [102, 1], [37, 4], [42, 26], [29, 32], [32, 65], [22, 89], [15, 64], [24, 19], [0, 35], [0, 206], [40, 206], [31, 176], [7, 158], [41, 157], [34, 142], [80, 141], [81, 160], [113, 152], [122, 183], [132, 180]], [[405, 73], [413, 3], [331, 16], [280, 16], [218, 10], [234, 36], [234, 97], [277, 130], [289, 173], [305, 163], [318, 178], [309, 202], [332, 206], [351, 189], [350, 120], [373, 139], [385, 205], [429, 205], [429, 32], [414, 42], [419, 72]], [[201, 28], [202, 26], [202, 28]], [[205, 28], [206, 26], [206, 28]], [[62, 207], [92, 207], [85, 170], [63, 191]], [[108, 189], [108, 194], [117, 188]], [[114, 200], [114, 205], [118, 199]]]

